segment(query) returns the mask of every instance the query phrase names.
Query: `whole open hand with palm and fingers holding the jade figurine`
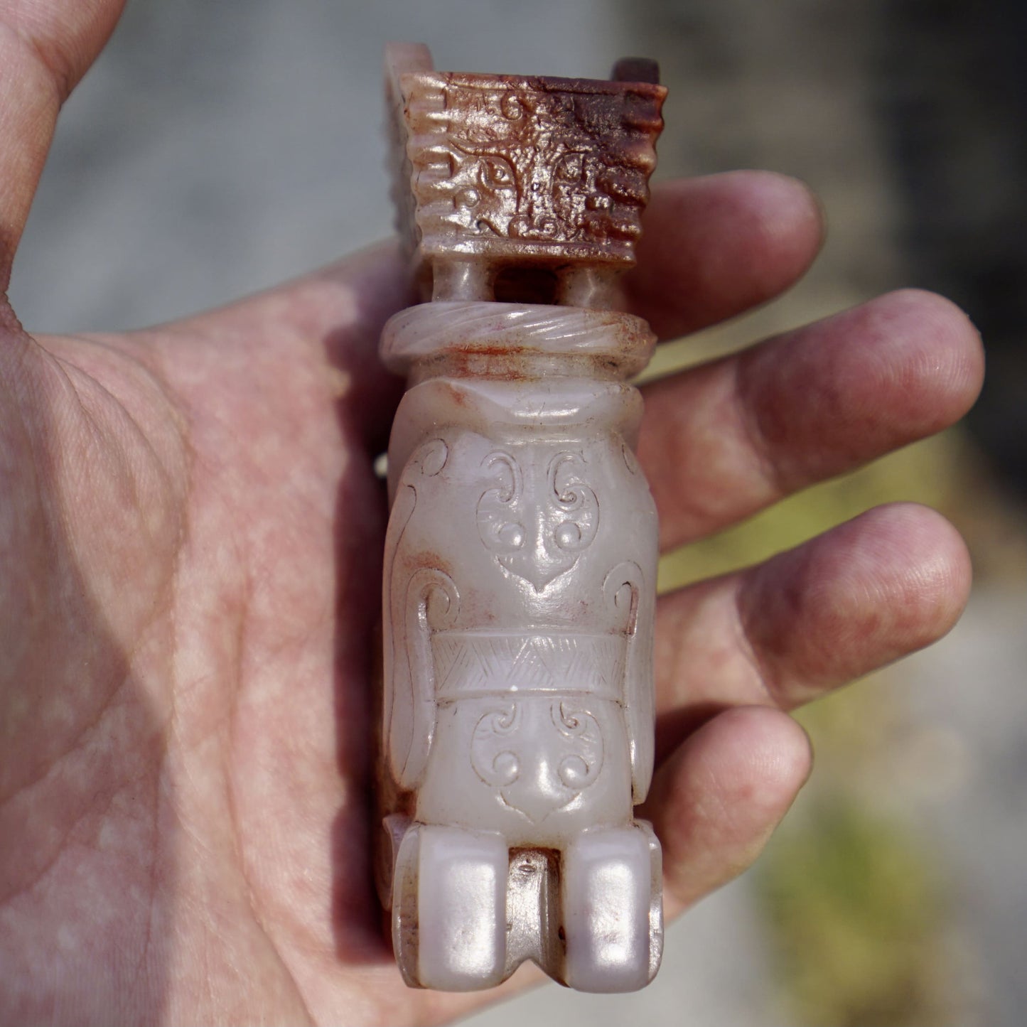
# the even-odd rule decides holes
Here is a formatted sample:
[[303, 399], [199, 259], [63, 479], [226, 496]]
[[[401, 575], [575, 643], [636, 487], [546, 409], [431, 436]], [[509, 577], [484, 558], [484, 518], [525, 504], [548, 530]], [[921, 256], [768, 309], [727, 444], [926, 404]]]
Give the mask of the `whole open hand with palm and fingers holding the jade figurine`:
[[[118, 0], [0, 0], [0, 286], [58, 111]], [[656, 191], [625, 302], [663, 338], [788, 288], [817, 206], [779, 176]], [[200, 316], [37, 337], [0, 306], [0, 1022], [439, 1023], [370, 886], [372, 471], [409, 302], [391, 248]], [[882, 297], [646, 389], [664, 547], [957, 420], [976, 332]], [[805, 781], [787, 711], [943, 635], [969, 587], [938, 515], [872, 510], [664, 597], [644, 810], [674, 914]]]

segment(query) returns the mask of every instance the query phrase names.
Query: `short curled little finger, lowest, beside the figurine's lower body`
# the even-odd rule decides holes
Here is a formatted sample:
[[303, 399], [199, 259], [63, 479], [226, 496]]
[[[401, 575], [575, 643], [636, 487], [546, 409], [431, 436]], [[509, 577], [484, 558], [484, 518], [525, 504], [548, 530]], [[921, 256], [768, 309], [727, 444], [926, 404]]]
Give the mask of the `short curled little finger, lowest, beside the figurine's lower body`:
[[684, 741], [642, 809], [663, 849], [668, 916], [749, 867], [811, 765], [805, 731], [776, 710], [728, 710]]

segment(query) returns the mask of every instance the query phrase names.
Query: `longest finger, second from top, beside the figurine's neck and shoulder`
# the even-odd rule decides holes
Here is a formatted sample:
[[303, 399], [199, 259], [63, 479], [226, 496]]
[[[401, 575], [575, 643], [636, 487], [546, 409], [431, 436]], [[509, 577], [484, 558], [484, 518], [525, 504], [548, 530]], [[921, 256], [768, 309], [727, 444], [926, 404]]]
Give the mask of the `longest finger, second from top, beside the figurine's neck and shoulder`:
[[947, 427], [983, 375], [965, 314], [906, 290], [649, 386], [639, 458], [662, 547]]

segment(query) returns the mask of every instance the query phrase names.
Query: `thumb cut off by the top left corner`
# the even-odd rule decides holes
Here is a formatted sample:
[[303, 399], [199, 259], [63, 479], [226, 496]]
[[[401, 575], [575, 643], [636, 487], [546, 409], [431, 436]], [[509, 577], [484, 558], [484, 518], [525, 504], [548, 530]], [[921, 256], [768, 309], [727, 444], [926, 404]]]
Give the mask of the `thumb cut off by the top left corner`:
[[61, 105], [92, 64], [124, 0], [0, 0], [0, 295]]

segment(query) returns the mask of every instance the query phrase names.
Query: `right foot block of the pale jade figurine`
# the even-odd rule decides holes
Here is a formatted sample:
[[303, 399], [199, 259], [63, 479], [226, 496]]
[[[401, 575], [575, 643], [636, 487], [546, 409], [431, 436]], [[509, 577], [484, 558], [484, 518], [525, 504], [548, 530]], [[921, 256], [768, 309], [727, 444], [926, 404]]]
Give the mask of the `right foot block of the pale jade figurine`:
[[564, 980], [636, 991], [659, 965], [659, 843], [647, 824], [585, 831], [564, 853]]

